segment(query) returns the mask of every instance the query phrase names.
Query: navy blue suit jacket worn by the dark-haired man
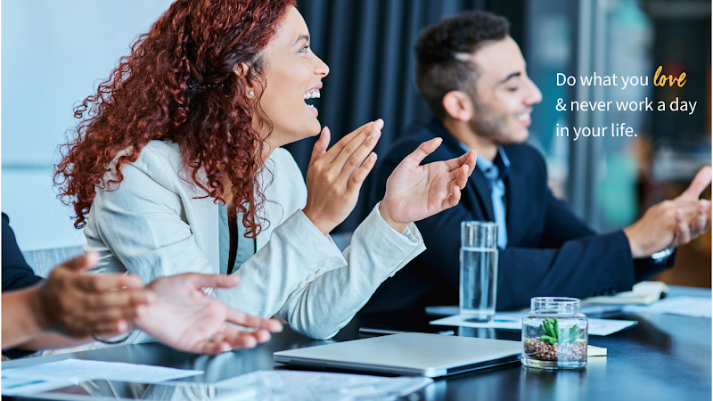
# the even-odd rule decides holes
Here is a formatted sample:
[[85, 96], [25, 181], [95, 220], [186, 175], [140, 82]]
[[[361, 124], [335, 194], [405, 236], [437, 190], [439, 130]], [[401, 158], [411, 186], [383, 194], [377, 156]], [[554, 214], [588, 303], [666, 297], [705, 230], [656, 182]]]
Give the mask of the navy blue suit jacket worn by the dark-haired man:
[[[423, 164], [449, 160], [463, 148], [436, 119], [412, 125], [376, 167], [371, 204], [383, 198], [386, 180], [398, 163], [422, 142], [443, 143]], [[529, 306], [537, 296], [586, 298], [631, 290], [633, 284], [670, 266], [652, 259], [633, 260], [627, 236], [619, 231], [597, 234], [555, 198], [547, 186], [542, 155], [527, 144], [504, 146], [511, 162], [504, 180], [507, 197], [508, 246], [500, 250], [498, 310]], [[460, 225], [464, 220], [495, 221], [488, 181], [475, 168], [454, 208], [417, 222], [425, 250], [394, 277], [381, 284], [362, 313], [457, 305]]]

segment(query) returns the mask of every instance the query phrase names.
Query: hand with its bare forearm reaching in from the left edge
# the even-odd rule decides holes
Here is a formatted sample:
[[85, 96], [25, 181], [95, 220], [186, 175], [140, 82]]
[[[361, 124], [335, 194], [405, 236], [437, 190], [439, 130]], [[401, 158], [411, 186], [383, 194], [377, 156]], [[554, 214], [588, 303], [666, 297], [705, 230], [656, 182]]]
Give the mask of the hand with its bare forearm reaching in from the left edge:
[[[3, 349], [53, 348], [89, 341], [91, 334], [112, 337], [127, 331], [136, 308], [147, 305], [152, 294], [131, 275], [82, 274], [97, 258], [90, 253], [71, 259], [37, 285], [4, 293]], [[29, 343], [34, 340], [37, 344]]]

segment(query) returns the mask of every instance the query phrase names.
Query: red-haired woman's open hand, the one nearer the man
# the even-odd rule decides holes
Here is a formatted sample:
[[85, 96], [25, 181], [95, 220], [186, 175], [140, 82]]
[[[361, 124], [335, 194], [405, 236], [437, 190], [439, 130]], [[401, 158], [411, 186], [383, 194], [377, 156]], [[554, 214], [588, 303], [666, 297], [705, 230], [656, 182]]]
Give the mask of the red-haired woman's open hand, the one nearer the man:
[[475, 168], [476, 152], [420, 166], [442, 142], [435, 138], [422, 143], [398, 164], [386, 182], [381, 217], [399, 233], [409, 223], [452, 208], [461, 200], [461, 190]]

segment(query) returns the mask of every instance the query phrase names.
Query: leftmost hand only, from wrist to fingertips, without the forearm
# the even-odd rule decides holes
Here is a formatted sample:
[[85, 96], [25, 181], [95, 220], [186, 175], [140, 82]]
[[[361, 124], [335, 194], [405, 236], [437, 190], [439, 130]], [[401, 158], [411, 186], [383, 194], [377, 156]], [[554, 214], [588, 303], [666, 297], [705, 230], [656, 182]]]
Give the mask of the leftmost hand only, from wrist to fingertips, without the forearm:
[[131, 275], [81, 274], [96, 264], [96, 253], [56, 266], [37, 288], [34, 309], [43, 331], [70, 337], [115, 336], [129, 328], [136, 307], [151, 301]]

